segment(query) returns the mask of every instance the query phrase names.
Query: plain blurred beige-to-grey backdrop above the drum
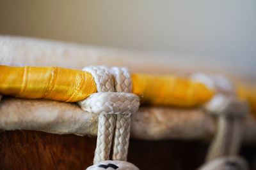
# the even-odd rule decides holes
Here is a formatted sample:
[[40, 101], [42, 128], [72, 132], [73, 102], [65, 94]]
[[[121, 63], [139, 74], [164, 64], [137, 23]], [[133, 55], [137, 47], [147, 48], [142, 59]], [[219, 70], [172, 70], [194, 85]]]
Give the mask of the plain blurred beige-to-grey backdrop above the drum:
[[256, 80], [256, 1], [3, 1], [0, 34], [110, 46]]

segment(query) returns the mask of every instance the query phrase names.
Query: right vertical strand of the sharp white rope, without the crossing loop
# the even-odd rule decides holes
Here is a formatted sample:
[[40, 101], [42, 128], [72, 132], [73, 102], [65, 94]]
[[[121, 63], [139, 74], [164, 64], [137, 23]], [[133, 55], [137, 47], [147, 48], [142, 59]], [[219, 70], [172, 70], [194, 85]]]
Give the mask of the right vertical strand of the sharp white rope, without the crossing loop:
[[[111, 67], [116, 92], [132, 92], [132, 78], [125, 67]], [[131, 114], [116, 116], [116, 129], [113, 141], [113, 160], [127, 160], [131, 129]]]

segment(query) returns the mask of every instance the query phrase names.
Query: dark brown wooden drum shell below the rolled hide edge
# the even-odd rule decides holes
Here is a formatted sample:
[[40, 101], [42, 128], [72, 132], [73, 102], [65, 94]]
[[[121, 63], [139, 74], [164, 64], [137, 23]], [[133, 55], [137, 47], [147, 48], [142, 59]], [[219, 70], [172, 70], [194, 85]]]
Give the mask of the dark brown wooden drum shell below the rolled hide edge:
[[[95, 145], [96, 138], [71, 134], [0, 132], [0, 169], [86, 169], [92, 164]], [[247, 146], [242, 153], [252, 163], [255, 151]], [[128, 161], [141, 170], [189, 170], [204, 163], [206, 152], [207, 145], [196, 141], [131, 139]]]

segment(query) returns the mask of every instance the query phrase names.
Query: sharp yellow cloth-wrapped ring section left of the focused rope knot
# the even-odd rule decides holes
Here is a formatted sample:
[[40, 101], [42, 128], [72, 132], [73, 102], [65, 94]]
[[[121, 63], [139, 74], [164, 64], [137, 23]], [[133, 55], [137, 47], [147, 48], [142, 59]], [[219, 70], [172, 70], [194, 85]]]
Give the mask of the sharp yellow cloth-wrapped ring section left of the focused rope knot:
[[0, 66], [0, 94], [76, 102], [97, 92], [92, 74], [60, 67]]

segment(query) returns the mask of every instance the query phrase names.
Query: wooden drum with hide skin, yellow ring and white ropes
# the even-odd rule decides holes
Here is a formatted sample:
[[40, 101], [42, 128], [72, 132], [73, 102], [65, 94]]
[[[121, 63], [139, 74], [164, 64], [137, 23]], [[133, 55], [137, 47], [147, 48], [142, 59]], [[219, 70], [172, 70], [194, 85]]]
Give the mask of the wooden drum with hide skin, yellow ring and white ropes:
[[248, 169], [238, 155], [256, 141], [252, 85], [113, 50], [0, 41], [1, 169]]

